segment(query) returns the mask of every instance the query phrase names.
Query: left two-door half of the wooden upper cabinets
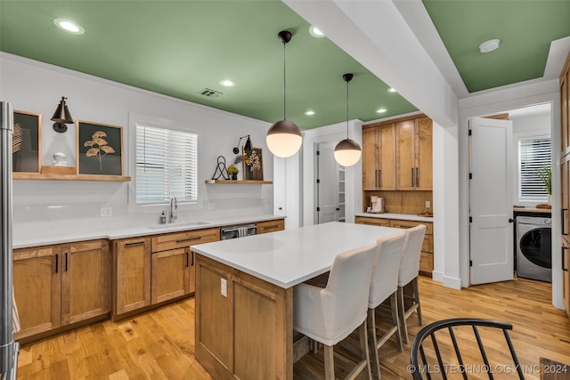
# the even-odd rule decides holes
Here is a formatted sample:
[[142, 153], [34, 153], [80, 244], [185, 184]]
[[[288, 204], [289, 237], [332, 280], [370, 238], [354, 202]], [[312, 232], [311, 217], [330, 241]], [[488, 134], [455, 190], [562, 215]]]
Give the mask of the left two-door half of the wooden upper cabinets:
[[395, 125], [362, 128], [363, 190], [395, 190]]

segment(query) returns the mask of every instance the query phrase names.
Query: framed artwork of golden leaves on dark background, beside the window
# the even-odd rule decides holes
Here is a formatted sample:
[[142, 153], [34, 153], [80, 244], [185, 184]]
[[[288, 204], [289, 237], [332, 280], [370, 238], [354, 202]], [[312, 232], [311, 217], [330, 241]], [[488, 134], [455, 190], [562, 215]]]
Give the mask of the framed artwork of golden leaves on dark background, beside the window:
[[77, 174], [123, 175], [123, 128], [77, 120]]

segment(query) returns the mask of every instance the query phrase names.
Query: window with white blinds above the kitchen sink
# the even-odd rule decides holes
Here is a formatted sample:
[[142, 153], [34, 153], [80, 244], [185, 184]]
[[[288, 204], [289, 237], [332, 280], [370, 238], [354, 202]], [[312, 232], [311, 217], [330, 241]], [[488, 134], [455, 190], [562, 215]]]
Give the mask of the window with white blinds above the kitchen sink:
[[136, 204], [198, 199], [198, 134], [136, 124]]

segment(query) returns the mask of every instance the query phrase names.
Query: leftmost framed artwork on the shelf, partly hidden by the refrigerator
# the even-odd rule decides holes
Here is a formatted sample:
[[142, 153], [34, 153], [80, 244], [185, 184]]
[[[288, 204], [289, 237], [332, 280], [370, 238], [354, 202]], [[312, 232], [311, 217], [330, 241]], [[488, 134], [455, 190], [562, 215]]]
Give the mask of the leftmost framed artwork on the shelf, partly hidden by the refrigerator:
[[13, 113], [12, 172], [39, 173], [42, 167], [42, 116]]

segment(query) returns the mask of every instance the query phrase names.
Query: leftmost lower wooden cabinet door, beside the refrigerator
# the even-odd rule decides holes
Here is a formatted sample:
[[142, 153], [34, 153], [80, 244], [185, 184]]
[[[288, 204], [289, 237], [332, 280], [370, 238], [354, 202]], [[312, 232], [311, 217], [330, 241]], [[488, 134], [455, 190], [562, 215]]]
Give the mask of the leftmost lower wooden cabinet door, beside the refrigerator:
[[59, 247], [14, 249], [13, 285], [21, 327], [17, 340], [61, 326], [60, 271]]

